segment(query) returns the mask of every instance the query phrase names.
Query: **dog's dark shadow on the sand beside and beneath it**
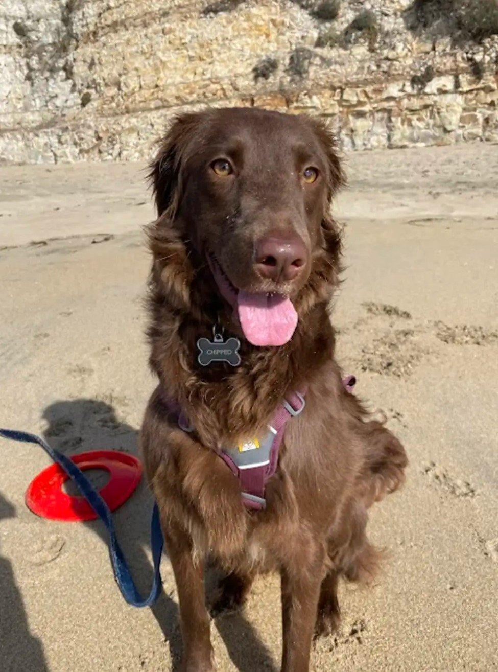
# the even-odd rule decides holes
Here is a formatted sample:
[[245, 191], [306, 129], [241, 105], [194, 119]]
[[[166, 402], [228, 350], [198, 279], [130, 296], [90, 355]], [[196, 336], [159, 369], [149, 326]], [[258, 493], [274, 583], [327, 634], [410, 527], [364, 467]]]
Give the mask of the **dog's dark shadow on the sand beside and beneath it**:
[[[57, 401], [45, 409], [43, 417], [48, 422], [44, 433], [46, 441], [67, 455], [99, 449], [122, 450], [133, 455], [138, 453], [138, 431], [120, 421], [114, 407], [106, 401], [89, 398]], [[103, 482], [92, 480], [95, 486], [102, 487]], [[114, 514], [116, 534], [138, 590], [143, 594], [149, 591], [153, 575], [151, 562], [145, 552], [150, 547], [152, 506], [151, 492], [147, 483], [142, 480], [130, 500]], [[107, 532], [99, 521], [91, 521], [85, 525], [104, 543], [108, 543]], [[109, 571], [112, 572], [111, 566]], [[214, 581], [208, 576], [208, 601], [212, 585]], [[177, 604], [163, 591], [151, 611], [168, 642], [173, 672], [177, 672], [181, 658]], [[240, 672], [253, 672], [255, 669], [275, 670], [269, 651], [243, 614], [237, 612], [219, 616], [215, 624]]]

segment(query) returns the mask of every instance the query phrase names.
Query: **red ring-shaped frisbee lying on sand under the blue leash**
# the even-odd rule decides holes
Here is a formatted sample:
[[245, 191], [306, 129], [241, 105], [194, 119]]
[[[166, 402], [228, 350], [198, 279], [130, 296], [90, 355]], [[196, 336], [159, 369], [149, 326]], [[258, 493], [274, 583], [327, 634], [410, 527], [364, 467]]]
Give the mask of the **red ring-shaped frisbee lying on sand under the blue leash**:
[[[140, 482], [142, 464], [140, 460], [115, 450], [91, 450], [73, 455], [71, 460], [81, 471], [103, 469], [110, 473], [110, 479], [99, 491], [111, 511], [120, 507]], [[58, 466], [44, 469], [26, 491], [28, 508], [43, 518], [51, 520], [94, 520], [97, 514], [84, 497], [70, 497], [61, 489], [69, 480], [66, 472]]]

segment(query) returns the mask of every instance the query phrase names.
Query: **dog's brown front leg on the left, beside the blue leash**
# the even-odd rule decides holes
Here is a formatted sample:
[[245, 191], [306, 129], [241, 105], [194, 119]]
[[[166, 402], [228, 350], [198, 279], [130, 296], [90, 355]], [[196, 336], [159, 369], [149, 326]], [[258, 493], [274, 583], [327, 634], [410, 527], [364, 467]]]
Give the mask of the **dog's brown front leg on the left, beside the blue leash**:
[[178, 591], [181, 636], [183, 639], [182, 672], [211, 672], [213, 654], [210, 642], [209, 615], [204, 595], [204, 564], [194, 560], [192, 540], [181, 530], [163, 523], [163, 532]]

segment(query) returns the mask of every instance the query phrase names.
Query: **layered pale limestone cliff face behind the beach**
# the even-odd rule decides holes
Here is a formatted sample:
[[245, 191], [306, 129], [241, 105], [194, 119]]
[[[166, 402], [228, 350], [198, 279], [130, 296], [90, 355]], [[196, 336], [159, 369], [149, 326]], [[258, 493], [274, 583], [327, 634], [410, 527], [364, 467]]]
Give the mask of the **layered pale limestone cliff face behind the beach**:
[[316, 114], [347, 149], [498, 142], [498, 37], [417, 20], [411, 0], [2, 0], [0, 161], [147, 158], [207, 104]]

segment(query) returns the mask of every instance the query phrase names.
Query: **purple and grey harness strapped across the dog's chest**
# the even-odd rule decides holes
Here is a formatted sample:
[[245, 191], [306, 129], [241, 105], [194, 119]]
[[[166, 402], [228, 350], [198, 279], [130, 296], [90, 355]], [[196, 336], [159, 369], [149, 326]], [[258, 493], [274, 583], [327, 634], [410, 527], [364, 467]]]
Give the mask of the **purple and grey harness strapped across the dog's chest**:
[[[354, 376], [343, 379], [347, 392], [352, 392], [356, 384]], [[177, 423], [185, 432], [194, 431], [183, 411], [179, 411], [169, 404], [171, 411], [177, 415]], [[280, 444], [284, 437], [284, 429], [288, 420], [302, 413], [304, 396], [299, 392], [292, 392], [277, 407], [272, 423], [262, 437], [234, 446], [222, 448], [218, 455], [237, 476], [241, 487], [241, 497], [247, 509], [261, 511], [266, 506], [265, 487], [269, 478], [277, 470]]]

